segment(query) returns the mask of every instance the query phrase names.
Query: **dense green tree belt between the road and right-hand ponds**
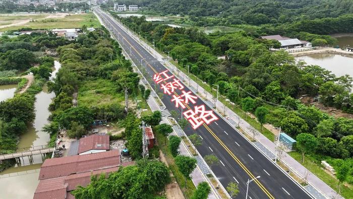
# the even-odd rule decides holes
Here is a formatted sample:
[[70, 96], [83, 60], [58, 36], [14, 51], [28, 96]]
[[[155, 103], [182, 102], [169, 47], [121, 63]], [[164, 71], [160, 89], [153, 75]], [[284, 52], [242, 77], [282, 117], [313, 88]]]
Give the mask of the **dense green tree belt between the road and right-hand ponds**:
[[[244, 31], [207, 35], [197, 28], [172, 28], [144, 17], [119, 19], [210, 87], [219, 85], [219, 92], [244, 111], [265, 113], [261, 125], [281, 127], [293, 138], [313, 135], [317, 160], [351, 160], [353, 120], [334, 118], [298, 100], [302, 95], [318, 96], [326, 106], [353, 113], [351, 77], [296, 63], [283, 50], [270, 52], [276, 41]], [[225, 60], [217, 59], [219, 55], [225, 55]]]

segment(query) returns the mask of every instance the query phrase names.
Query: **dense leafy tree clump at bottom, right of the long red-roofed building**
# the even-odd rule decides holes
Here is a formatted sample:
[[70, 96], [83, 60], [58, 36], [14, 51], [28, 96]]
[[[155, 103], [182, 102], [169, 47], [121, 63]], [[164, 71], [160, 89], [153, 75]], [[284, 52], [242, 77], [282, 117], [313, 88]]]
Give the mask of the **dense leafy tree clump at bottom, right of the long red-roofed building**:
[[92, 176], [87, 187], [72, 193], [75, 198], [149, 198], [170, 181], [168, 168], [157, 160], [140, 160], [136, 166], [120, 168], [99, 178]]

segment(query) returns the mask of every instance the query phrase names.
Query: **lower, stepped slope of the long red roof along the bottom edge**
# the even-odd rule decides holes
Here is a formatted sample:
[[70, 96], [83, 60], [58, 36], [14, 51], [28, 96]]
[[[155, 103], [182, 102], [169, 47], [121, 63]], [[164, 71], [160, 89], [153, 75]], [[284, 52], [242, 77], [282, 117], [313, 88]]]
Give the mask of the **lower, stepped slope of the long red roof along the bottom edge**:
[[91, 182], [92, 175], [111, 173], [113, 171], [117, 171], [118, 169], [119, 167], [112, 167], [93, 172], [40, 180], [37, 189], [34, 192], [33, 198], [75, 198], [69, 191], [75, 190], [77, 186], [87, 186]]

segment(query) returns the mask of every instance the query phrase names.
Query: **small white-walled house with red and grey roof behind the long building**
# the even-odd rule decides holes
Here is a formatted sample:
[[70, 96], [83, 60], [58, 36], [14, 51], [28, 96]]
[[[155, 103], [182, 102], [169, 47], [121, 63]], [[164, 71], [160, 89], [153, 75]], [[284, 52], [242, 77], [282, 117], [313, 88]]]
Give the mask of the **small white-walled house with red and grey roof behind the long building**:
[[93, 134], [72, 141], [68, 156], [94, 154], [109, 151], [109, 135], [105, 133]]

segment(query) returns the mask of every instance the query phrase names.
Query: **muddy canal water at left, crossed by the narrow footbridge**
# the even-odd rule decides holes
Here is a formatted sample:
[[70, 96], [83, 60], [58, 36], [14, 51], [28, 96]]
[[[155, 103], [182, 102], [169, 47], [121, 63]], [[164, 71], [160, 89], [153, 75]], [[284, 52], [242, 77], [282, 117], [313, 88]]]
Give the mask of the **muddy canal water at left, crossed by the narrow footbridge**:
[[[54, 62], [54, 71], [51, 73], [51, 80], [55, 78], [56, 72], [60, 69], [61, 64], [57, 61]], [[12, 97], [12, 90], [16, 90], [16, 86], [7, 89], [8, 98]], [[5, 92], [5, 88], [0, 86], [0, 93]], [[13, 90], [13, 92], [15, 92]], [[2, 95], [0, 95], [2, 96]], [[36, 94], [35, 119], [27, 132], [20, 136], [18, 148], [45, 145], [49, 141], [49, 134], [42, 131], [44, 125], [48, 124], [47, 120], [50, 112], [48, 110], [49, 104], [52, 102], [55, 94], [48, 92], [47, 87], [44, 86], [43, 90]], [[30, 165], [28, 158], [24, 157], [22, 165], [15, 165], [0, 173], [0, 198], [33, 198], [34, 191], [39, 183], [38, 175], [42, 163], [40, 155], [33, 156], [34, 164]]]

